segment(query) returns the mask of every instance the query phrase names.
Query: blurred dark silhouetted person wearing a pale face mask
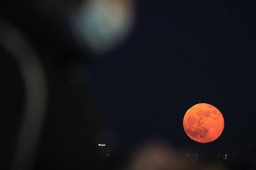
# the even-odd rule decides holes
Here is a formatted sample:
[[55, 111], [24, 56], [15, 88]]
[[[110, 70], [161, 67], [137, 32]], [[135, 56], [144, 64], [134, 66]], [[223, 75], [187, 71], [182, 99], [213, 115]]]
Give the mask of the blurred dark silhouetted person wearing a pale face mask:
[[0, 2], [1, 169], [99, 167], [85, 68], [92, 54], [125, 37], [131, 6], [131, 0]]

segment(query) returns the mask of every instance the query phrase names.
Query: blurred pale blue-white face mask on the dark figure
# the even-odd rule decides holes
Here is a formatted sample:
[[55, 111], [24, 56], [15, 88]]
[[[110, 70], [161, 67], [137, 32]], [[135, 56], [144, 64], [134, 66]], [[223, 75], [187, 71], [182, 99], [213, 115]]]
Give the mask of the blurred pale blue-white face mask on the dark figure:
[[105, 53], [117, 46], [133, 26], [133, 10], [127, 2], [129, 1], [86, 1], [70, 18], [78, 43], [82, 47], [88, 45], [96, 53]]

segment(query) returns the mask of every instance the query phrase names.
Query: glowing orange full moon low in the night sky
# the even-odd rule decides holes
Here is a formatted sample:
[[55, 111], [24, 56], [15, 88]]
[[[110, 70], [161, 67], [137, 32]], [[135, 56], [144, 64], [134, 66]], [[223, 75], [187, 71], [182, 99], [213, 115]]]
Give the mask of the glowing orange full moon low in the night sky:
[[213, 142], [224, 129], [224, 118], [218, 108], [199, 103], [185, 113], [183, 127], [192, 140], [200, 143]]

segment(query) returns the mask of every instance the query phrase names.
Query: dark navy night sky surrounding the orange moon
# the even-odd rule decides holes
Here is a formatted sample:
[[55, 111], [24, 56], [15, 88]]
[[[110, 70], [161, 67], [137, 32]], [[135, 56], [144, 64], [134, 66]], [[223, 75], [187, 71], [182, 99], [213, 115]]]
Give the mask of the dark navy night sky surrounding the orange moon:
[[[256, 2], [138, 0], [136, 27], [118, 49], [89, 67], [91, 90], [118, 147], [151, 138], [174, 147], [256, 148]], [[219, 108], [220, 138], [185, 135], [183, 117], [196, 103]]]

